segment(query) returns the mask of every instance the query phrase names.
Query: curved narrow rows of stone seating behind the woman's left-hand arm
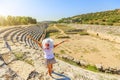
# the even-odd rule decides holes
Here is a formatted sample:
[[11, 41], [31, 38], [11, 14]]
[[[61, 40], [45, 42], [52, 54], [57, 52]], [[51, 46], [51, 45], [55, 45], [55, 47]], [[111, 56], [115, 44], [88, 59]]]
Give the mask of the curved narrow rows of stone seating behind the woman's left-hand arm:
[[44, 25], [39, 26], [25, 26], [25, 27], [12, 27], [0, 30], [0, 37], [4, 40], [9, 40], [12, 43], [23, 43], [25, 46], [29, 46], [34, 49], [39, 49], [39, 46], [30, 38], [32, 36], [35, 40], [40, 40], [44, 33]]

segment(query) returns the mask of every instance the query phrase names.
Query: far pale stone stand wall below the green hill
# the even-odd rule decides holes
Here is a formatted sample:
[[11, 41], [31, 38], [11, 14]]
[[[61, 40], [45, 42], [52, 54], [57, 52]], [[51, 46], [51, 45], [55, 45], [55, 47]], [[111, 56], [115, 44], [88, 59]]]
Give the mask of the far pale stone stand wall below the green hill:
[[102, 26], [102, 25], [81, 25], [69, 24], [77, 29], [85, 29], [91, 35], [102, 39], [120, 43], [120, 26]]

